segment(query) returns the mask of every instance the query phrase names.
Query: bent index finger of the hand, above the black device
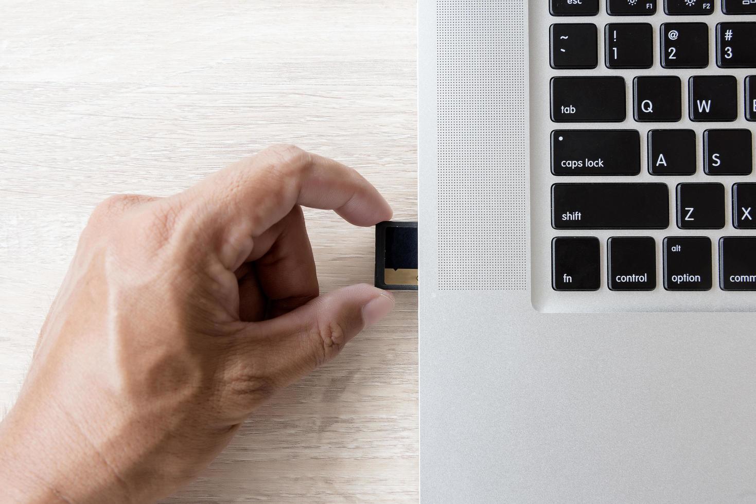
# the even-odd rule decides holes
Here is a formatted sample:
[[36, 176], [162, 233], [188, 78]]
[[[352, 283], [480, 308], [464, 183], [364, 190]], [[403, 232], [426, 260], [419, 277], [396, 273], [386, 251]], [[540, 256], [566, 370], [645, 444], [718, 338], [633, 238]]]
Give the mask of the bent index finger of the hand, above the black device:
[[386, 199], [354, 169], [291, 145], [269, 147], [234, 163], [183, 196], [189, 206], [201, 209], [200, 223], [216, 229], [242, 227], [252, 237], [296, 205], [334, 210], [358, 226], [392, 216]]

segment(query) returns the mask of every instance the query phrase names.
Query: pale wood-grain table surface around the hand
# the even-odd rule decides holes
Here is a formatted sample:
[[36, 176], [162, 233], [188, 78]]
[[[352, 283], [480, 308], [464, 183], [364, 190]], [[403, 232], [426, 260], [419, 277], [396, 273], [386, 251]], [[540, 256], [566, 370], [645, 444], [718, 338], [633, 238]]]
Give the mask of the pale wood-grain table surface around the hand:
[[[91, 209], [175, 193], [268, 144], [354, 166], [417, 216], [407, 0], [0, 0], [0, 416]], [[321, 290], [373, 230], [308, 211]], [[249, 419], [169, 502], [417, 501], [417, 296]]]

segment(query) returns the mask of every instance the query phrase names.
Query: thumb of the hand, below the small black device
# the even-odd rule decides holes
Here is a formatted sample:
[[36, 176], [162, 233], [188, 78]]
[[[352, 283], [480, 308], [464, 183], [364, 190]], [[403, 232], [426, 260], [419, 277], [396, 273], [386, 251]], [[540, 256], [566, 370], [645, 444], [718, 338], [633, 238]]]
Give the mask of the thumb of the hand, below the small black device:
[[282, 385], [289, 385], [336, 357], [349, 340], [386, 317], [394, 297], [361, 283], [314, 298], [280, 317], [256, 323], [268, 336]]

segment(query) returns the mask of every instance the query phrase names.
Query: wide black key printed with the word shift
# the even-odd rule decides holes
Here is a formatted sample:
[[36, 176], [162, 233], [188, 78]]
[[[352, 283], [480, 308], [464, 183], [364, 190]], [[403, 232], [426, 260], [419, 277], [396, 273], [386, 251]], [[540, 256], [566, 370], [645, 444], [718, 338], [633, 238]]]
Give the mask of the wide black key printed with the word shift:
[[554, 229], [666, 229], [667, 184], [553, 184]]

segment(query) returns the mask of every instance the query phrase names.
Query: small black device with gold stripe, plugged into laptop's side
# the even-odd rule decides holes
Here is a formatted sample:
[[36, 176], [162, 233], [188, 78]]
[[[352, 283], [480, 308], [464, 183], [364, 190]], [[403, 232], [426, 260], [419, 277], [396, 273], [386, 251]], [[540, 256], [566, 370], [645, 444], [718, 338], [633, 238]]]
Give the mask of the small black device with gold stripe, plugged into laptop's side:
[[376, 225], [375, 285], [380, 289], [417, 290], [417, 222]]

